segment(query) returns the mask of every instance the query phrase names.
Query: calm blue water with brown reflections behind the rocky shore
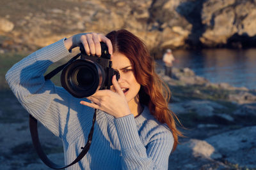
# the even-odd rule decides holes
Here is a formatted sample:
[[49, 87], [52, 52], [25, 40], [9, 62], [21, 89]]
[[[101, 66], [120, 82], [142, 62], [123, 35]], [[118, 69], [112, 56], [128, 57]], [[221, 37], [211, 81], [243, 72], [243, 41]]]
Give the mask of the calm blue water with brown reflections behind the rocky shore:
[[212, 83], [256, 89], [256, 48], [248, 50], [176, 50], [174, 67], [189, 67]]

